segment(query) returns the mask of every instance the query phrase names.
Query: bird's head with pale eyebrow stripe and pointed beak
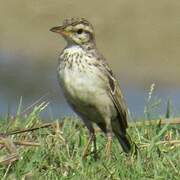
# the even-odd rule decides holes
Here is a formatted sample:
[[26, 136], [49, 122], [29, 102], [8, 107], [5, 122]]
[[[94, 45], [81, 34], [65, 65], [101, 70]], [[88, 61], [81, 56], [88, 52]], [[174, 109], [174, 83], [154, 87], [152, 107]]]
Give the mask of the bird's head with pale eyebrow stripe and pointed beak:
[[65, 19], [62, 25], [50, 31], [62, 35], [69, 45], [95, 43], [93, 26], [84, 18]]

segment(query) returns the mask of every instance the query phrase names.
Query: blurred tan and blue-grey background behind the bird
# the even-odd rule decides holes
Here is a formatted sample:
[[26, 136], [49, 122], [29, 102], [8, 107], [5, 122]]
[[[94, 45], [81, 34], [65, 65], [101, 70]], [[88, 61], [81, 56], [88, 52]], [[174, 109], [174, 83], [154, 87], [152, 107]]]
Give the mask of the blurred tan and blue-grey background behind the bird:
[[180, 112], [180, 1], [0, 0], [0, 116], [48, 94], [44, 116], [72, 114], [56, 79], [65, 41], [49, 29], [85, 17], [98, 48], [120, 81], [128, 107], [143, 116], [152, 83], [165, 111]]

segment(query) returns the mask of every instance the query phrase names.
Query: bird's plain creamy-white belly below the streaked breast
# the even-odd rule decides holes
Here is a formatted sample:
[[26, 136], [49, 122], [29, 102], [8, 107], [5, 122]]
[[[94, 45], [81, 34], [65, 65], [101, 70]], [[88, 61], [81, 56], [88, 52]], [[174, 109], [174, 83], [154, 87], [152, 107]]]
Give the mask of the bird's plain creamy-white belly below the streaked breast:
[[94, 122], [102, 121], [105, 113], [116, 113], [106, 82], [97, 74], [65, 70], [59, 73], [59, 80], [68, 102], [78, 113]]

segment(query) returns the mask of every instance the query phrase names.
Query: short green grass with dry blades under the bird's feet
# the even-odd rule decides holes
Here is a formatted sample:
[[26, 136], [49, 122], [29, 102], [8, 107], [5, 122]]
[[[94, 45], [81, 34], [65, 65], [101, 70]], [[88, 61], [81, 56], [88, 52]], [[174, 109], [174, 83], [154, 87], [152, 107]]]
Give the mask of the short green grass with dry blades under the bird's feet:
[[[21, 116], [19, 107], [16, 118], [1, 118], [0, 132], [41, 125], [39, 116], [45, 103], [35, 107], [28, 115]], [[165, 138], [178, 140], [180, 127], [141, 126], [128, 129], [139, 146], [137, 158], [126, 156], [116, 138], [113, 139], [110, 159], [104, 157], [106, 138], [97, 132], [98, 159], [81, 154], [87, 142], [87, 130], [73, 117], [59, 120], [60, 127], [44, 128], [8, 136], [12, 141], [39, 143], [35, 146], [16, 146], [19, 159], [10, 165], [0, 165], [0, 179], [179, 179], [180, 144], [160, 144]], [[145, 147], [142, 147], [144, 145]], [[91, 150], [90, 150], [91, 151]], [[0, 157], [8, 156], [5, 148]]]

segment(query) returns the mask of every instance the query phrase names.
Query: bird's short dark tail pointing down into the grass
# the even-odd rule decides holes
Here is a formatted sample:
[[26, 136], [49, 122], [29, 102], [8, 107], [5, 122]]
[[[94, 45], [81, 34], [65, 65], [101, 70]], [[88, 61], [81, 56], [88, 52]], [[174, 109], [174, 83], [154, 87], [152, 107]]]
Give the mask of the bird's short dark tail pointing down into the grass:
[[123, 151], [127, 154], [137, 154], [137, 146], [136, 144], [131, 140], [130, 136], [126, 134], [116, 134], [119, 143], [121, 144], [121, 147]]

